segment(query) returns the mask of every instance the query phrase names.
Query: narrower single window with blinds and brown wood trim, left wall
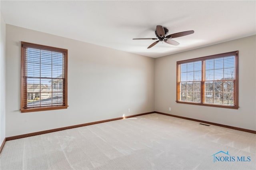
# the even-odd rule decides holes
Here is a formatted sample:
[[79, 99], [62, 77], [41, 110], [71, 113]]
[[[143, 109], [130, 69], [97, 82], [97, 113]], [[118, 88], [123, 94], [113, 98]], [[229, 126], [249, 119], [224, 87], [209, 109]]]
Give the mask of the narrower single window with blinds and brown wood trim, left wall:
[[67, 49], [21, 42], [20, 111], [66, 109], [67, 68]]

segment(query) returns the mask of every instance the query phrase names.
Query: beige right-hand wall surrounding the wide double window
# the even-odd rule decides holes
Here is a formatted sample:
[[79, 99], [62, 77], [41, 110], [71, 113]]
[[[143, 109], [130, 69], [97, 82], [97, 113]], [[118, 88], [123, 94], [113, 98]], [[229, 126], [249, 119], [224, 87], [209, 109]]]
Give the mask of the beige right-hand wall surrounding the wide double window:
[[[176, 61], [239, 51], [239, 109], [176, 103]], [[256, 130], [256, 36], [211, 45], [155, 61], [155, 111]], [[169, 107], [172, 111], [168, 111]]]

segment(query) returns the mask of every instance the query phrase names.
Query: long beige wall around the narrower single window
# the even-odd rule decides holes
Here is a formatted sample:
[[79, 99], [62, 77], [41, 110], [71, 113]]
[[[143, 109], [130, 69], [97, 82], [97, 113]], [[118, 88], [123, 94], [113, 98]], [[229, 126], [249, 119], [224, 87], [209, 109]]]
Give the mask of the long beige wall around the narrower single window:
[[[21, 41], [68, 49], [68, 109], [20, 113]], [[151, 111], [153, 58], [6, 24], [7, 137]]]

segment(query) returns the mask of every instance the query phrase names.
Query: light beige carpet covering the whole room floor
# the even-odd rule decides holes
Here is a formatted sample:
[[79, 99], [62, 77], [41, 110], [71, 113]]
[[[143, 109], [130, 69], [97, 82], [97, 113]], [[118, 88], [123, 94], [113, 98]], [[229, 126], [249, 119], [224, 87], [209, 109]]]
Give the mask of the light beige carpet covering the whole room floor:
[[0, 169], [255, 170], [256, 134], [154, 113], [7, 141]]

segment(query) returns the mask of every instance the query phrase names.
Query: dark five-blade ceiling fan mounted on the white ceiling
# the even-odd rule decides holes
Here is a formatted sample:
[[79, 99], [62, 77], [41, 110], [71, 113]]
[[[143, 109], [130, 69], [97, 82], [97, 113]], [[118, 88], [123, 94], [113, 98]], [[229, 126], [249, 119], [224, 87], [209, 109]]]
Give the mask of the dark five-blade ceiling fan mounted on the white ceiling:
[[179, 45], [180, 43], [171, 40], [171, 38], [177, 38], [177, 37], [182, 37], [182, 36], [187, 36], [189, 34], [193, 34], [194, 31], [190, 30], [190, 31], [184, 31], [184, 32], [178, 32], [175, 34], [170, 34], [167, 36], [169, 30], [163, 26], [156, 26], [156, 37], [157, 38], [133, 38], [132, 40], [158, 40], [154, 43], [152, 43], [151, 45], [148, 46], [148, 48], [153, 47], [154, 45], [156, 45], [158, 42], [165, 42], [171, 45]]

